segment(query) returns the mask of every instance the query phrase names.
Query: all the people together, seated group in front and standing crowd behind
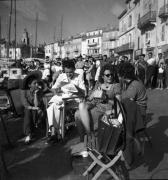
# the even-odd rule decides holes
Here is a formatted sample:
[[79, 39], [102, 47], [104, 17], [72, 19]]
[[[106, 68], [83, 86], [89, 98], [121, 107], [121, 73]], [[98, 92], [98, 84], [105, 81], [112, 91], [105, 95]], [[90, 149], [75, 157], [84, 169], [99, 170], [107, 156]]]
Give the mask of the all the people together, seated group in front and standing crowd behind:
[[[144, 54], [135, 62], [126, 56], [107, 58], [106, 55], [85, 59], [79, 56], [76, 59], [57, 59], [52, 62], [47, 58], [42, 71], [37, 66], [33, 70], [27, 68], [29, 73], [23, 80], [22, 93], [25, 143], [31, 142], [33, 126], [42, 123], [46, 116], [49, 125], [48, 143], [60, 139], [63, 94], [68, 94], [68, 97], [76, 96], [67, 102], [66, 109], [75, 108], [74, 117], [81, 142], [84, 141], [85, 134], [98, 127], [103, 114], [112, 113], [114, 97], [126, 104], [134, 102], [132, 110], [135, 105], [139, 109], [138, 125], [132, 122], [129, 125], [131, 130], [128, 128], [128, 131], [134, 134], [134, 131], [145, 129], [146, 89], [168, 87], [168, 62], [163, 60], [161, 54], [158, 60], [153, 58], [152, 53], [146, 59]], [[53, 94], [47, 109], [42, 101], [45, 93]]]

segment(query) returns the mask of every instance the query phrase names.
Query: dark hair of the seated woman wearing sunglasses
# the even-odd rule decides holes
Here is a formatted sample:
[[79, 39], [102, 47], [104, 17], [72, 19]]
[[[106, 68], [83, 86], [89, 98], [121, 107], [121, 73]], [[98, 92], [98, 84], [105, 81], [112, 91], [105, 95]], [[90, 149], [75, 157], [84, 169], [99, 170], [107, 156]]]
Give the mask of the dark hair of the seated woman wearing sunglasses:
[[99, 76], [100, 83], [104, 83], [103, 75], [106, 70], [109, 70], [110, 73], [112, 74], [113, 83], [119, 82], [116, 67], [111, 64], [105, 64], [104, 66], [101, 67], [101, 70], [100, 70], [100, 76]]

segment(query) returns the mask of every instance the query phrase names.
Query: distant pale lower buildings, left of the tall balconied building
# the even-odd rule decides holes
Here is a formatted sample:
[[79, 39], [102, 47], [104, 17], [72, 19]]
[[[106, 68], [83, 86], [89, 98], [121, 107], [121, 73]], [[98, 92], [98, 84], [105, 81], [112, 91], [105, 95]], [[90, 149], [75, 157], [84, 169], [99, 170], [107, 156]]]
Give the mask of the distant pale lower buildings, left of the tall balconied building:
[[113, 53], [116, 47], [118, 29], [111, 27], [95, 29], [86, 33], [71, 36], [63, 41], [57, 41], [45, 46], [45, 55], [50, 58], [68, 57], [79, 55], [99, 55]]

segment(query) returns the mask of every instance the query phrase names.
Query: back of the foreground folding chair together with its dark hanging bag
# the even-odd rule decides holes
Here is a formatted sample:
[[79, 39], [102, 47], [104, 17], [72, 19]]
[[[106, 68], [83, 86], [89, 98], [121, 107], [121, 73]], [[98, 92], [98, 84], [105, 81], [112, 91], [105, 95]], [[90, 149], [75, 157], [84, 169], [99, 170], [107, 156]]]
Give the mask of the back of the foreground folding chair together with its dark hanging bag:
[[114, 99], [113, 110], [112, 115], [101, 117], [98, 125], [98, 151], [106, 155], [115, 155], [125, 148], [126, 116], [117, 98]]

